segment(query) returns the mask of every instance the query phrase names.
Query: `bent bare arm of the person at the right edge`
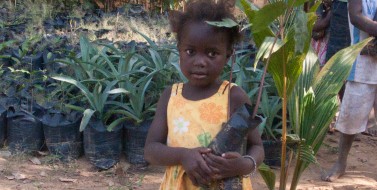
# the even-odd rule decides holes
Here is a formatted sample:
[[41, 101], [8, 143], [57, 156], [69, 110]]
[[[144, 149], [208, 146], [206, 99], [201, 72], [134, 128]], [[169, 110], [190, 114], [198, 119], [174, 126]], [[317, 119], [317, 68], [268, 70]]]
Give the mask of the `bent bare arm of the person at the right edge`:
[[369, 35], [377, 36], [377, 22], [363, 15], [361, 0], [349, 0], [348, 7], [351, 23]]

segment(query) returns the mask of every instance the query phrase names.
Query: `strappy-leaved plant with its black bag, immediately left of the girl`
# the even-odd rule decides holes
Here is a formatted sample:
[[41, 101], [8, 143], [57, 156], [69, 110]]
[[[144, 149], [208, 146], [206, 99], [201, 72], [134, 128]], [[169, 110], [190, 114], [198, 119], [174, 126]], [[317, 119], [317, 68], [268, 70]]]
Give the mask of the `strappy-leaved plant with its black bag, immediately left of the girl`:
[[175, 47], [157, 46], [146, 35], [138, 32], [149, 46], [137, 50], [132, 71], [138, 71], [125, 79], [124, 88], [130, 93], [119, 107], [126, 110], [125, 153], [128, 161], [138, 169], [148, 164], [144, 159], [144, 145], [148, 129], [155, 114], [162, 90], [174, 82], [184, 80], [178, 65]]

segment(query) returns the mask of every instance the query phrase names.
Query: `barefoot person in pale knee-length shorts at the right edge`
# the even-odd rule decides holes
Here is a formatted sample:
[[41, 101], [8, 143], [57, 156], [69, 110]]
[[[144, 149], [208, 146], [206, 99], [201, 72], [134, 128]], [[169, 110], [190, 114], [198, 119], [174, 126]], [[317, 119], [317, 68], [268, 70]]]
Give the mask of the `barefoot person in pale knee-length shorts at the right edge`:
[[[377, 36], [377, 0], [349, 0], [352, 44]], [[345, 174], [347, 157], [356, 134], [364, 132], [372, 108], [377, 110], [377, 57], [359, 55], [347, 79], [336, 129], [341, 133], [338, 160], [322, 180], [334, 181]]]

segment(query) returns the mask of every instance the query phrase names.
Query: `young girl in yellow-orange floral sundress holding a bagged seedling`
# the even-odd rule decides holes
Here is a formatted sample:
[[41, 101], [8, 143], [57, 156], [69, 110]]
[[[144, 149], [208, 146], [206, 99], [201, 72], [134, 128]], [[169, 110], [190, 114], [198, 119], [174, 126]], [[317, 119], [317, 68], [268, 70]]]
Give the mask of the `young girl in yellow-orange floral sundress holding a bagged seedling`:
[[[264, 159], [256, 128], [247, 134], [246, 156], [236, 152], [216, 156], [206, 148], [227, 121], [228, 110], [232, 114], [243, 104], [250, 104], [241, 88], [219, 80], [233, 44], [240, 38], [238, 27], [206, 23], [234, 19], [231, 5], [226, 0], [198, 0], [188, 3], [185, 12], [170, 13], [180, 67], [188, 82], [174, 84], [163, 92], [148, 132], [145, 159], [167, 166], [160, 189], [214, 189], [217, 180], [250, 174]], [[242, 186], [252, 189], [250, 177], [243, 178]]]

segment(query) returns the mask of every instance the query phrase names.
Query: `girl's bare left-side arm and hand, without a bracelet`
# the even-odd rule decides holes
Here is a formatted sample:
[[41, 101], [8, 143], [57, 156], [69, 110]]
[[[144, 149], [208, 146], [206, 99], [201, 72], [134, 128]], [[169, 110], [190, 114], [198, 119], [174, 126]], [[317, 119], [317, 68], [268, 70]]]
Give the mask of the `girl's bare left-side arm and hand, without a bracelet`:
[[167, 106], [170, 93], [171, 88], [165, 89], [157, 103], [156, 115], [148, 131], [144, 147], [145, 160], [153, 165], [182, 165], [194, 185], [208, 184], [211, 180], [211, 170], [201, 154], [208, 153], [209, 149], [188, 149], [166, 145], [168, 134]]

